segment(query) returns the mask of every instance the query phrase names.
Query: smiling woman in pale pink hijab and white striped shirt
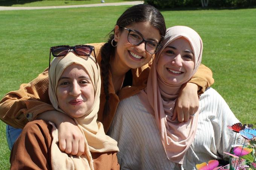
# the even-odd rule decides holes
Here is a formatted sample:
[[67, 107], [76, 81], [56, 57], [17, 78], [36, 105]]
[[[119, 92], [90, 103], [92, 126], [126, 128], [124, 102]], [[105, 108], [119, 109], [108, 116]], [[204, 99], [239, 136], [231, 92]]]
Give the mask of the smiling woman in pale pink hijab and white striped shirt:
[[203, 42], [191, 28], [166, 31], [147, 87], [119, 103], [108, 131], [117, 140], [121, 169], [192, 170], [229, 152], [235, 133], [227, 125], [239, 121], [212, 88], [201, 94], [200, 108], [187, 122], [172, 120], [181, 87], [197, 71], [202, 52]]

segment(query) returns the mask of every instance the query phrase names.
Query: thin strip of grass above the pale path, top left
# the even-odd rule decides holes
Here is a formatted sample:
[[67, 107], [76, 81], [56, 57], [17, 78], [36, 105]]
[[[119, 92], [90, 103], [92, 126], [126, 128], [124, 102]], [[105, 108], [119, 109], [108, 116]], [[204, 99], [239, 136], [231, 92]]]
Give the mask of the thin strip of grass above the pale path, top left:
[[[105, 0], [105, 3], [127, 2], [134, 0]], [[101, 3], [101, 0], [0, 0], [0, 6], [64, 6]]]

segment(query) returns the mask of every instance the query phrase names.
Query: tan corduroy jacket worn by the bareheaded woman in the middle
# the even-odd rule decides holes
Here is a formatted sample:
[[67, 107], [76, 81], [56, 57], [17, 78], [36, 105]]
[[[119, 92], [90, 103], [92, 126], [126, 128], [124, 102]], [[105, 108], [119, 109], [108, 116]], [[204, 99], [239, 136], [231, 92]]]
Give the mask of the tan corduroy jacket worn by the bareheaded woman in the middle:
[[[101, 47], [104, 43], [95, 43], [90, 45], [94, 46], [97, 61], [101, 67]], [[109, 74], [108, 88], [110, 111], [108, 113], [108, 117], [104, 120], [102, 119], [102, 113], [105, 104], [105, 93], [103, 85], [101, 85], [101, 102], [98, 112], [98, 120], [103, 123], [105, 132], [107, 132], [110, 127], [120, 100], [133, 96], [146, 87], [151, 63], [152, 60], [149, 64], [146, 64], [141, 68], [132, 69], [133, 85], [122, 88], [118, 95], [114, 91], [111, 73]], [[103, 80], [101, 82], [103, 82]], [[212, 71], [206, 66], [200, 65], [199, 70], [189, 82], [200, 86], [201, 90], [199, 94], [201, 94], [214, 82], [212, 78]], [[48, 69], [46, 69], [30, 83], [21, 84], [19, 90], [11, 91], [6, 94], [0, 101], [1, 120], [11, 126], [23, 128], [28, 121], [35, 120], [38, 114], [45, 111], [55, 110], [49, 100], [48, 84]]]

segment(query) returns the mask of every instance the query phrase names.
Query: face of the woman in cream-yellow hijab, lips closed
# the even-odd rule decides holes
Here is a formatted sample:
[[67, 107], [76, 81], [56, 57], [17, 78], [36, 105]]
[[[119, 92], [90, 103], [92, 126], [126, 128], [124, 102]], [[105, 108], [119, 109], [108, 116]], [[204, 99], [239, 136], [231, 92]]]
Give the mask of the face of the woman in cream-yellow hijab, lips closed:
[[72, 64], [61, 74], [56, 89], [59, 107], [71, 117], [85, 115], [94, 102], [91, 79], [82, 65]]

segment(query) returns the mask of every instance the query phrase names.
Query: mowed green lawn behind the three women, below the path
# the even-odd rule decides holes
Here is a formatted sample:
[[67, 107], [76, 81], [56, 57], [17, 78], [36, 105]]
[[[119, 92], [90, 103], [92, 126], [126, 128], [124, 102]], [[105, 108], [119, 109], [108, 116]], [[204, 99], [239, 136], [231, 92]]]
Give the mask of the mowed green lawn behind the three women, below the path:
[[[49, 48], [105, 42], [129, 6], [0, 11], [0, 98], [37, 77]], [[215, 88], [242, 123], [256, 124], [256, 9], [162, 11], [167, 27], [197, 30], [203, 64]], [[5, 123], [0, 122], [0, 169], [9, 169]]]

